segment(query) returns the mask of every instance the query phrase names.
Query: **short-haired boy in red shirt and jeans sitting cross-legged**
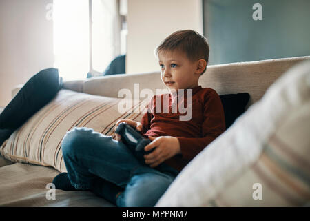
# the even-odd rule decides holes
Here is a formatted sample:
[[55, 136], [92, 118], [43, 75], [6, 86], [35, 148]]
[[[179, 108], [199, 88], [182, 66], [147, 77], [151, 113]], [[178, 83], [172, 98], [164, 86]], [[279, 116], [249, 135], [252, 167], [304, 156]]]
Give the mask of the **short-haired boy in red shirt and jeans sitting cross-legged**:
[[[89, 189], [117, 206], [154, 206], [183, 167], [225, 131], [220, 97], [215, 90], [198, 86], [209, 58], [206, 39], [193, 30], [174, 32], [156, 48], [156, 57], [161, 80], [171, 93], [154, 96], [141, 122], [116, 123], [127, 122], [152, 141], [145, 146], [145, 151], [154, 149], [144, 155], [145, 164], [138, 162], [120, 135], [113, 140], [91, 128], [74, 128], [63, 138], [68, 173], [54, 178], [56, 188]], [[192, 97], [181, 97], [180, 89], [190, 90]], [[171, 113], [172, 106], [176, 100], [185, 104], [188, 98], [192, 117], [180, 121], [181, 114]], [[169, 113], [154, 111], [163, 99]]]

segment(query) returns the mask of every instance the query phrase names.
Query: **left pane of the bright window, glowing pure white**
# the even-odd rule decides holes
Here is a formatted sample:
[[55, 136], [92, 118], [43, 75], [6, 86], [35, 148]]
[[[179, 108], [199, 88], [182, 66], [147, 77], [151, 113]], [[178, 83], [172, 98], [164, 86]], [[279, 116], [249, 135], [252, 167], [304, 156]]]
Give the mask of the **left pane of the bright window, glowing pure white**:
[[63, 80], [85, 79], [90, 70], [88, 0], [54, 0], [54, 67]]

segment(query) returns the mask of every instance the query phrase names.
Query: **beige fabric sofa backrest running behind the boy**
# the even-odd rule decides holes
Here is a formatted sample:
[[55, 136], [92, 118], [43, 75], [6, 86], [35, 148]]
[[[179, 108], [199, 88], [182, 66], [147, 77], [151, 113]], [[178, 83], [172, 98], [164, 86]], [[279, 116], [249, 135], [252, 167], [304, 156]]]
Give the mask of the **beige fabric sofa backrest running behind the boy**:
[[[213, 88], [219, 95], [247, 92], [251, 96], [249, 106], [258, 101], [282, 73], [306, 59], [310, 59], [310, 56], [212, 65], [208, 66], [206, 72], [200, 77], [199, 84], [203, 88]], [[131, 98], [145, 99], [145, 97], [134, 97], [134, 94], [139, 95], [143, 89], [150, 89], [154, 94], [158, 94], [156, 89], [165, 89], [160, 75], [159, 71], [107, 75], [87, 80], [65, 81], [64, 88], [107, 97], [119, 97], [118, 93], [121, 89], [128, 89], [131, 92]], [[135, 89], [134, 84], [136, 84]]]

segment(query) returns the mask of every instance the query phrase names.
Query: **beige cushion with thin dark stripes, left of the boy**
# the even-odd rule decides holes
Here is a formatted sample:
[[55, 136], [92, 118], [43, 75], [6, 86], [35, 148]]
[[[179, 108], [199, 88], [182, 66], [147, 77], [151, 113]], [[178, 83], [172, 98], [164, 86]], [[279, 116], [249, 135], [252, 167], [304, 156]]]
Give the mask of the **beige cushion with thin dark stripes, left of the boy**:
[[118, 111], [118, 104], [123, 104], [121, 100], [62, 89], [49, 104], [14, 131], [0, 147], [0, 153], [13, 162], [66, 171], [61, 141], [67, 131], [87, 127], [114, 137], [118, 119], [141, 121], [147, 102], [132, 100], [132, 107], [123, 105], [126, 112], [122, 113]]

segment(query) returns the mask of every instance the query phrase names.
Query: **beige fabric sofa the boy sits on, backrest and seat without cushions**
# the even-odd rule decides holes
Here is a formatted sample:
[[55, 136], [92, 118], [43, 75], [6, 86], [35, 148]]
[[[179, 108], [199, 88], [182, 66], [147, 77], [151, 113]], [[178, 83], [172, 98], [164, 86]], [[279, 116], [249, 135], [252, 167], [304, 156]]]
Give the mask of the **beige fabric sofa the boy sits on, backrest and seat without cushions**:
[[[310, 56], [292, 57], [209, 66], [199, 83], [203, 88], [214, 88], [220, 95], [247, 92], [251, 96], [249, 108], [286, 70], [309, 59]], [[63, 88], [90, 95], [118, 97], [122, 88], [129, 89], [134, 95], [134, 84], [138, 84], [139, 91], [148, 88], [154, 94], [156, 89], [165, 88], [159, 72], [65, 81]], [[21, 86], [12, 90], [12, 96]], [[0, 166], [0, 206], [113, 206], [89, 191], [56, 190], [56, 200], [48, 200], [46, 185], [59, 173], [52, 167], [10, 162], [1, 156]]]

